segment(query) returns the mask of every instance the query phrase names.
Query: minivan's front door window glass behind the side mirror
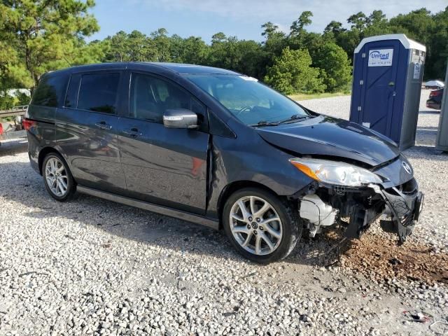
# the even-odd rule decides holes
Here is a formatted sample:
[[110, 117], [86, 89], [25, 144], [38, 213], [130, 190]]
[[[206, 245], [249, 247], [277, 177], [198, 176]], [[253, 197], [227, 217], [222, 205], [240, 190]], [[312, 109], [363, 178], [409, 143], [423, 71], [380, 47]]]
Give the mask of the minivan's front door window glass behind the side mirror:
[[155, 76], [132, 73], [131, 117], [162, 123], [168, 109], [190, 109], [191, 96], [178, 85]]

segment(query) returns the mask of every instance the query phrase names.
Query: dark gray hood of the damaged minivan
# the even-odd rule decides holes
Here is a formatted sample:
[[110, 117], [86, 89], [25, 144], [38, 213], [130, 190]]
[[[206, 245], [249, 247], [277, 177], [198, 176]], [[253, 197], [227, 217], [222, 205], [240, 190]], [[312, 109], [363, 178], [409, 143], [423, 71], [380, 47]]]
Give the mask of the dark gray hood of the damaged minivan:
[[300, 123], [260, 127], [258, 134], [300, 155], [328, 155], [377, 166], [400, 155], [390, 139], [356, 123], [318, 116]]

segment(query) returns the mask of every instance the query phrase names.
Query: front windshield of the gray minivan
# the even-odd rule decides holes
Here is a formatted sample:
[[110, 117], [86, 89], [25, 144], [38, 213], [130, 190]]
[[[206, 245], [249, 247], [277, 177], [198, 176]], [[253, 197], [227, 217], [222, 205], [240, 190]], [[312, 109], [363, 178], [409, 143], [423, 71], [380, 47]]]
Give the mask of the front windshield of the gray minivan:
[[269, 125], [310, 116], [290, 99], [255, 78], [237, 75], [190, 75], [188, 79], [246, 125]]

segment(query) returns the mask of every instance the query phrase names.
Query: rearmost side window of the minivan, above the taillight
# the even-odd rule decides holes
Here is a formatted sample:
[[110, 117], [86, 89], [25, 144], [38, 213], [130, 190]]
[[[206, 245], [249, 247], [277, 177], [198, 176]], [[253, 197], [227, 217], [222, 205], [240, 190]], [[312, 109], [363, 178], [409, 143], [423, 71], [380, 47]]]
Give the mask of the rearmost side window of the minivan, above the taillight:
[[34, 91], [31, 104], [48, 107], [62, 106], [68, 80], [68, 73], [43, 76]]

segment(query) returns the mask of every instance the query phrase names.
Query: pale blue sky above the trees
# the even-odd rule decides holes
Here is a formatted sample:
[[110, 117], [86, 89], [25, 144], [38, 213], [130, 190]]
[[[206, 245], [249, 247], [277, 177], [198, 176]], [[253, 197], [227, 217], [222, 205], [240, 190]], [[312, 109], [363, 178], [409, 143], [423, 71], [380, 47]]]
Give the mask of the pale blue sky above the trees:
[[346, 19], [358, 11], [368, 14], [381, 9], [391, 18], [421, 7], [436, 13], [446, 6], [447, 0], [97, 0], [92, 13], [101, 30], [89, 39], [102, 39], [120, 30], [150, 34], [164, 27], [170, 35], [201, 36], [207, 43], [218, 31], [262, 41], [263, 23], [271, 21], [288, 31], [304, 10], [314, 13], [308, 29], [321, 32], [331, 20], [346, 24]]

